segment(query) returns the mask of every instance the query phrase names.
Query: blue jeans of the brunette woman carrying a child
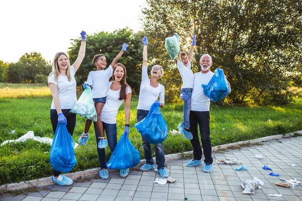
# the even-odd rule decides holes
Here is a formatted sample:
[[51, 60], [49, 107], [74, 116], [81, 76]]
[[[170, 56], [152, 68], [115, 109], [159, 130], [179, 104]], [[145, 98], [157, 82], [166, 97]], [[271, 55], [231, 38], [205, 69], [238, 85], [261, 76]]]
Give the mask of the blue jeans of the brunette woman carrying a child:
[[[117, 139], [116, 139], [116, 124], [106, 124], [105, 122], [103, 123], [104, 127], [104, 134], [106, 134], [106, 138], [108, 140], [108, 146], [110, 150], [113, 152], [116, 144], [117, 144]], [[98, 127], [95, 122], [93, 122], [95, 133], [96, 133], [96, 139], [97, 139], [97, 151], [98, 151], [98, 156], [99, 156], [99, 161], [100, 161], [100, 167], [101, 169], [107, 168], [106, 167], [106, 153], [105, 153], [105, 148], [104, 149], [99, 149], [98, 144], [100, 142], [100, 136]]]

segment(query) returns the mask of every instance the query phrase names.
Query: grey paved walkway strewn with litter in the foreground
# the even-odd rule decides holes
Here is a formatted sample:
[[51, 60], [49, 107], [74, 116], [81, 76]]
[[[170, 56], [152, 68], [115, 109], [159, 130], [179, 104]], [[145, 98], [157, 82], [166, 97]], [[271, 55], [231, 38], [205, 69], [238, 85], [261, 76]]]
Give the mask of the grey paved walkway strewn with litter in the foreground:
[[[263, 159], [256, 159], [262, 154]], [[242, 161], [248, 170], [236, 171], [240, 165], [217, 164], [215, 159], [234, 158]], [[282, 187], [275, 182], [279, 178], [297, 179], [302, 181], [302, 137], [280, 139], [264, 142], [263, 145], [230, 150], [225, 153], [213, 154], [213, 171], [205, 173], [202, 166], [187, 167], [189, 160], [167, 162], [167, 170], [175, 183], [160, 185], [153, 181], [160, 177], [155, 171], [132, 170], [126, 178], [119, 172], [109, 172], [109, 178], [99, 177], [74, 182], [71, 186], [56, 184], [39, 188], [39, 192], [28, 195], [0, 195], [2, 201], [56, 201], [56, 200], [302, 200], [302, 187]], [[290, 166], [296, 164], [298, 166]], [[270, 176], [269, 166], [280, 177]], [[255, 194], [243, 194], [241, 181], [258, 177], [264, 182], [262, 189]], [[283, 197], [272, 197], [268, 194], [282, 194]]]

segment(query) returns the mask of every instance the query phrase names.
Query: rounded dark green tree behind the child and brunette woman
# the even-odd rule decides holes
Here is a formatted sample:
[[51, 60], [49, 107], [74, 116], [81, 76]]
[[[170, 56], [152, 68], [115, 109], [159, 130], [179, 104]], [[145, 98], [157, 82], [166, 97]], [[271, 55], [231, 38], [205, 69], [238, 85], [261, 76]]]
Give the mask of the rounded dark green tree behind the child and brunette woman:
[[[104, 54], [107, 59], [107, 66], [109, 66], [122, 49], [122, 44], [127, 43], [127, 51], [124, 52], [118, 62], [125, 65], [127, 83], [131, 86], [134, 93], [138, 93], [140, 85], [138, 77], [141, 77], [142, 64], [141, 38], [141, 33], [133, 33], [129, 28], [119, 29], [113, 33], [98, 32], [88, 35], [85, 58], [75, 74], [78, 84], [83, 84], [87, 80], [89, 72], [97, 69], [92, 63], [92, 59], [96, 54]], [[81, 39], [72, 39], [72, 46], [68, 51], [71, 65], [78, 57], [80, 45]]]

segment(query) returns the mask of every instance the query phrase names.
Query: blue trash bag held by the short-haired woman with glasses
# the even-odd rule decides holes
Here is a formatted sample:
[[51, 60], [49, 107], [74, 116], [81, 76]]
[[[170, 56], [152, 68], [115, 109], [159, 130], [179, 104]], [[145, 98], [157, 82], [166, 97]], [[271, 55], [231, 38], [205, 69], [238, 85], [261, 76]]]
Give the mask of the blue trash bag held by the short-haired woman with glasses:
[[159, 144], [168, 136], [168, 125], [160, 111], [159, 104], [154, 103], [147, 116], [134, 125], [134, 128], [151, 144]]

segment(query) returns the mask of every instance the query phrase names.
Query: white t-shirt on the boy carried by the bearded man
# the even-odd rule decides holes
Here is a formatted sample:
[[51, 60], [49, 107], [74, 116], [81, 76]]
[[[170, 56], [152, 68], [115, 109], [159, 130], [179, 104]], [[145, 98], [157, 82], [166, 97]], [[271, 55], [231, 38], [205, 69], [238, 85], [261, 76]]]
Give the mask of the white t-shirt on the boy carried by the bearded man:
[[185, 66], [182, 61], [177, 59], [177, 67], [183, 81], [181, 88], [193, 88], [194, 75], [191, 70], [191, 62], [188, 61], [188, 65]]

